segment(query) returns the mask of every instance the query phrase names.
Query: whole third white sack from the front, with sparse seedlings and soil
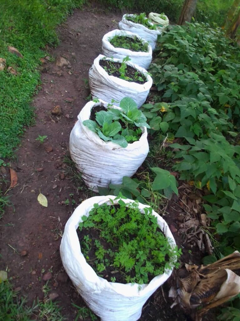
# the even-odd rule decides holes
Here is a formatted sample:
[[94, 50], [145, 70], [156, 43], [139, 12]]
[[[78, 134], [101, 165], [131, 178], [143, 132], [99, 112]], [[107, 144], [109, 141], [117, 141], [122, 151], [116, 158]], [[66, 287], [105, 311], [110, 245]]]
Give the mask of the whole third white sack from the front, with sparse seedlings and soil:
[[127, 56], [124, 59], [99, 55], [89, 70], [89, 87], [93, 97], [115, 105], [124, 97], [130, 97], [140, 108], [152, 87], [153, 79], [142, 67]]

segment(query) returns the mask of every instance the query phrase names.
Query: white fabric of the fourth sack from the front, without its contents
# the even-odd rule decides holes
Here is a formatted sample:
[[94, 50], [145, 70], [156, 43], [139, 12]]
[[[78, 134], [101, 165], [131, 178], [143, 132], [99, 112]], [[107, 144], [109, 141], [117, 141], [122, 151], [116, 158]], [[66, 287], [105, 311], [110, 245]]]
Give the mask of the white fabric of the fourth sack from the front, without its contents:
[[136, 64], [140, 67], [147, 69], [152, 60], [152, 54], [153, 54], [152, 47], [148, 45], [147, 52], [131, 51], [129, 49], [124, 49], [124, 48], [115, 48], [113, 45], [111, 45], [109, 39], [112, 39], [116, 35], [128, 36], [130, 38], [137, 37], [139, 40], [143, 41], [143, 43], [147, 43], [146, 40], [142, 39], [140, 36], [132, 32], [125, 31], [125, 30], [118, 30], [118, 29], [112, 30], [103, 36], [103, 39], [102, 39], [103, 55], [106, 57], [113, 57], [118, 59], [123, 59], [126, 56], [129, 56], [133, 64]]

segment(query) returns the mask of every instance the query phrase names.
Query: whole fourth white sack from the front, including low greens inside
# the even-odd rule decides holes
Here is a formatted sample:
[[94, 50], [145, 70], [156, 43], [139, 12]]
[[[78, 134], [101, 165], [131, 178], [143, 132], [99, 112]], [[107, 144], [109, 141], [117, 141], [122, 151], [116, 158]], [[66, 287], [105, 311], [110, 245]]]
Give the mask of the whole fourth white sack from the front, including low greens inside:
[[106, 57], [123, 59], [128, 56], [133, 64], [145, 69], [152, 60], [152, 47], [137, 34], [125, 30], [112, 30], [102, 39], [102, 51]]

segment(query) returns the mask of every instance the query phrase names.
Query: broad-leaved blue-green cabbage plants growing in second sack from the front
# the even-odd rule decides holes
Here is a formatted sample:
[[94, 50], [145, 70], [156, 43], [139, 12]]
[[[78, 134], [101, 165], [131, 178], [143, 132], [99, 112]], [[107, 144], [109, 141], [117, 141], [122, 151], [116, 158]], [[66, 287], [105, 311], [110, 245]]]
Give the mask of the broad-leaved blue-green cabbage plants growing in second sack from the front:
[[[137, 141], [141, 136], [141, 126], [149, 127], [146, 117], [137, 109], [135, 101], [125, 97], [120, 101], [120, 108], [109, 108], [95, 114], [96, 121], [88, 119], [83, 121], [94, 133], [98, 134], [105, 142], [112, 141], [121, 147]], [[123, 124], [121, 125], [120, 124]]]

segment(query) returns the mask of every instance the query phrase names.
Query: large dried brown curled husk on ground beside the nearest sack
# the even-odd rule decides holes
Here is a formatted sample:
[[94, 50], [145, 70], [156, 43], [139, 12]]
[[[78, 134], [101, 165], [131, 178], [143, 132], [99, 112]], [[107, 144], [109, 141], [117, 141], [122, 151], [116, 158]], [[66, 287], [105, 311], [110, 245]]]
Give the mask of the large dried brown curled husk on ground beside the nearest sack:
[[[240, 293], [240, 253], [234, 253], [206, 266], [185, 264], [185, 271], [175, 274], [176, 286], [172, 286], [170, 297], [184, 309], [201, 307], [195, 313], [195, 321], [202, 315]], [[182, 277], [184, 274], [184, 277]], [[172, 306], [173, 306], [172, 305]]]

